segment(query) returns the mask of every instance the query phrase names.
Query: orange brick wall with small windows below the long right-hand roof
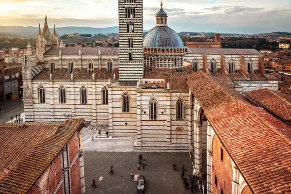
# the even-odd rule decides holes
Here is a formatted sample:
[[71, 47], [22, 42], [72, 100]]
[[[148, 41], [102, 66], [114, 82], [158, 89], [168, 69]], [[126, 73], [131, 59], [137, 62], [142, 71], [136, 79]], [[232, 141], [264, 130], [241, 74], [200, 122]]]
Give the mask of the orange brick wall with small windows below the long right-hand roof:
[[[221, 148], [223, 150], [223, 161], [221, 160]], [[221, 194], [221, 189], [224, 194], [231, 194], [232, 191], [232, 164], [231, 158], [226, 152], [226, 149], [221, 144], [218, 137], [215, 135], [212, 145], [212, 194]], [[215, 185], [215, 176], [217, 184]]]

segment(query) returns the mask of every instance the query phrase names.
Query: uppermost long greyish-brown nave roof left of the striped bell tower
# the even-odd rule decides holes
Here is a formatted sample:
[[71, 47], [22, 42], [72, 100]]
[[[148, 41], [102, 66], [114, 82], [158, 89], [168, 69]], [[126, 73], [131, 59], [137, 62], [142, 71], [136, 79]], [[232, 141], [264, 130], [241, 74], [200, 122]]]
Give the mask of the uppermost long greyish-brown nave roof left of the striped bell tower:
[[62, 55], [79, 55], [79, 50], [81, 50], [81, 55], [98, 55], [99, 50], [101, 55], [118, 55], [118, 48], [102, 48], [102, 47], [85, 47], [85, 48], [50, 48], [44, 55], [59, 55], [60, 50]]

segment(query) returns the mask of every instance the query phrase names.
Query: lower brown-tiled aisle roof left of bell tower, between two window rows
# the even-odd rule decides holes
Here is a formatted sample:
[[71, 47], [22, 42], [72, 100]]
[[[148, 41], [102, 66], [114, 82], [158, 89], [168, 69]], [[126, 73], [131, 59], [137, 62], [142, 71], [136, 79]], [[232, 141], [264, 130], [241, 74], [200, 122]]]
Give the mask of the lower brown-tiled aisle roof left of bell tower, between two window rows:
[[[119, 70], [113, 69], [113, 73], [107, 73], [106, 69], [94, 69], [95, 80], [113, 80], [114, 73], [115, 78], [119, 77]], [[71, 80], [71, 74], [67, 73], [67, 69], [55, 69], [51, 73], [53, 80]], [[35, 80], [49, 80], [49, 69], [42, 70], [35, 78]], [[92, 80], [92, 73], [87, 73], [87, 69], [74, 69], [74, 80]]]

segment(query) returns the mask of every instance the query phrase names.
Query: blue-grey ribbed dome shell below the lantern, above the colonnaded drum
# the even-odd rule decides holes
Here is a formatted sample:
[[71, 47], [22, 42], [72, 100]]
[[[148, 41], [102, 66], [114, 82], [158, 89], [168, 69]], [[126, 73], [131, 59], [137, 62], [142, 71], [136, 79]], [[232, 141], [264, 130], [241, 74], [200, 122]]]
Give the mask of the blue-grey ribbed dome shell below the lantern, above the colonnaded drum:
[[144, 48], [185, 48], [181, 37], [168, 26], [156, 26], [144, 38]]

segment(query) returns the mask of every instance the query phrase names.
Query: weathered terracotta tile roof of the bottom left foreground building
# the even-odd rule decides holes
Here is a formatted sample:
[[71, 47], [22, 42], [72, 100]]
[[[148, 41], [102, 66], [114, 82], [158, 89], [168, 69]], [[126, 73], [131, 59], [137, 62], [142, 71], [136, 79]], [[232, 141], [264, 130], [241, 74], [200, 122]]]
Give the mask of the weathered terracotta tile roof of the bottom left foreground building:
[[0, 193], [26, 193], [82, 122], [0, 123]]

